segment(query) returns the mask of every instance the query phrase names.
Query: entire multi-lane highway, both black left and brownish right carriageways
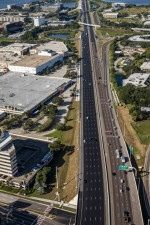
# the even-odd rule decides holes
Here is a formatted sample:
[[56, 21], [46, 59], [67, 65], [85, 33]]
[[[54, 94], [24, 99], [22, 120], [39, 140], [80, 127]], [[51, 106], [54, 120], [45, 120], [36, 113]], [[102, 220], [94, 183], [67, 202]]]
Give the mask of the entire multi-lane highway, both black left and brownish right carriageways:
[[[83, 23], [91, 24], [87, 0], [83, 2]], [[129, 184], [128, 180], [129, 177], [131, 178], [131, 175], [127, 171], [119, 171], [119, 165], [125, 165], [129, 161], [129, 157], [126, 154], [124, 140], [120, 140], [119, 125], [113, 111], [108, 78], [109, 61], [107, 45], [108, 43], [103, 47], [103, 60], [100, 62], [94, 30], [91, 26], [89, 28], [84, 26], [81, 50], [81, 75], [83, 75], [81, 82], [81, 140], [83, 140], [83, 143], [82, 141], [80, 142], [82, 150], [81, 174], [76, 224], [108, 224], [105, 221], [110, 216], [110, 224], [125, 225], [127, 221], [125, 220], [124, 212], [127, 212], [128, 224], [142, 225], [143, 219], [137, 189], [135, 191], [133, 190], [136, 193], [134, 196], [136, 199], [132, 198], [130, 194], [132, 185], [136, 188], [135, 180], [132, 176], [132, 182]], [[96, 101], [96, 99], [98, 100]], [[101, 125], [97, 127], [97, 124]], [[108, 207], [106, 207], [106, 201], [104, 201], [106, 189], [104, 192], [102, 188], [103, 183], [105, 183], [105, 179], [103, 179], [105, 175], [102, 175], [104, 171], [102, 170], [99, 153], [101, 143], [99, 143], [98, 133], [100, 129], [102, 129], [101, 135], [104, 137], [103, 141], [109, 169], [109, 191], [111, 192], [111, 199], [108, 207], [110, 207], [111, 215], [108, 214]], [[119, 157], [117, 157], [116, 150], [119, 152]], [[122, 155], [125, 156], [125, 162], [121, 160]], [[97, 158], [95, 160], [96, 156]], [[97, 174], [95, 183], [93, 183], [94, 174]], [[98, 190], [99, 187], [101, 192], [93, 192], [93, 189]], [[103, 202], [99, 201], [100, 198]], [[132, 201], [136, 204], [134, 207]], [[94, 210], [95, 206], [97, 209], [97, 207], [102, 207], [102, 205], [104, 207], [103, 211]], [[136, 214], [137, 212], [138, 215]], [[99, 217], [101, 217], [101, 223], [98, 223]]]

